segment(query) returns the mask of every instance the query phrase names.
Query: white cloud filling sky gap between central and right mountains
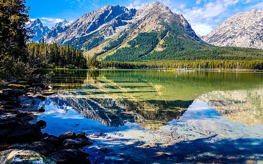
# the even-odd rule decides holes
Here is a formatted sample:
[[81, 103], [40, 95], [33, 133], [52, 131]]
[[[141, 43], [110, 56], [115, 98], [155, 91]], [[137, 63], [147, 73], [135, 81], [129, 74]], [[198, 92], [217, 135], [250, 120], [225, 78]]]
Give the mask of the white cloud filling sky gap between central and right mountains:
[[196, 0], [173, 1], [160, 0], [174, 13], [182, 13], [197, 34], [205, 35], [211, 32], [224, 19], [235, 13], [232, 8], [239, 2], [249, 0]]

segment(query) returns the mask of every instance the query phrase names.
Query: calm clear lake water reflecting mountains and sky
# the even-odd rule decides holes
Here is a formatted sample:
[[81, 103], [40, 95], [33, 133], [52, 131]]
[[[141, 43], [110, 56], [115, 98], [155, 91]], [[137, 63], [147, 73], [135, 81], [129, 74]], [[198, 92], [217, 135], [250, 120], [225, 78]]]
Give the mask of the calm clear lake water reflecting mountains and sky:
[[263, 163], [261, 72], [48, 72], [44, 131], [86, 132], [92, 162]]

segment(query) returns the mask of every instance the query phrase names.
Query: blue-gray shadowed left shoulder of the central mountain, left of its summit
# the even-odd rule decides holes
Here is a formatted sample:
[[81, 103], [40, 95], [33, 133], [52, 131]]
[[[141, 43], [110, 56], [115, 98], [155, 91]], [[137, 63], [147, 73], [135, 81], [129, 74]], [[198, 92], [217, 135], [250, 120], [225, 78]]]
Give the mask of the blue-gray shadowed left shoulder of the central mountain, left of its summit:
[[115, 33], [116, 28], [128, 24], [136, 10], [128, 10], [119, 5], [107, 5], [97, 11], [92, 11], [76, 19], [70, 27], [56, 38], [51, 38], [48, 43], [57, 42], [63, 44], [67, 41], [81, 38], [92, 33], [100, 36], [110, 36]]

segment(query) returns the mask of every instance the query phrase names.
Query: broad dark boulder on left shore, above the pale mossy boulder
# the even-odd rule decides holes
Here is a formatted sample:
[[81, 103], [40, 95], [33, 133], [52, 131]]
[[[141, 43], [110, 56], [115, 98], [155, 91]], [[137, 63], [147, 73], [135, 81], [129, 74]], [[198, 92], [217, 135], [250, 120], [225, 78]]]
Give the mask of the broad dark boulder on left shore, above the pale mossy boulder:
[[36, 124], [22, 125], [7, 135], [7, 141], [10, 143], [31, 142], [42, 138], [40, 126]]

